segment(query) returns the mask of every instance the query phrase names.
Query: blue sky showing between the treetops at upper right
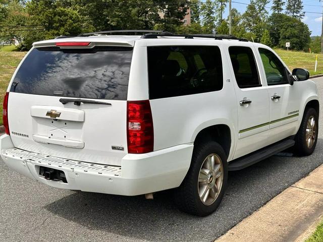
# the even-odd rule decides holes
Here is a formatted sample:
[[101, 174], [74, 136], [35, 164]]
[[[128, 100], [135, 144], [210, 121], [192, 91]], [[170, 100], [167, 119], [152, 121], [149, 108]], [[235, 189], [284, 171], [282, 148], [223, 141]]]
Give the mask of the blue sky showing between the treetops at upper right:
[[[232, 8], [237, 9], [240, 13], [244, 13], [246, 11], [247, 5], [250, 3], [250, 0], [232, 0]], [[322, 24], [322, 6], [323, 3], [320, 3], [319, 0], [303, 0], [305, 17], [303, 22], [308, 25], [309, 30], [312, 32], [311, 36], [321, 35], [321, 24]], [[225, 17], [228, 16], [229, 5], [227, 6]], [[272, 7], [272, 1], [266, 6], [267, 11], [271, 13], [270, 8]], [[315, 13], [308, 13], [315, 12]]]

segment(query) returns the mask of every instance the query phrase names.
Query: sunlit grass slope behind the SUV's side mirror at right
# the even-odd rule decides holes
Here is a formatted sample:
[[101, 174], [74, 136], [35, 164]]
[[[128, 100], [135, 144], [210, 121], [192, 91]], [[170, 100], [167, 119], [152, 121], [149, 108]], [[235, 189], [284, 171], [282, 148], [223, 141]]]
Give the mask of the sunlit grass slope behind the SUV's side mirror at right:
[[323, 54], [318, 54], [317, 57], [317, 70], [314, 73], [315, 56], [305, 52], [297, 52], [292, 50], [275, 49], [276, 53], [283, 59], [289, 69], [292, 71], [294, 68], [305, 68], [309, 74], [317, 75], [323, 74]]

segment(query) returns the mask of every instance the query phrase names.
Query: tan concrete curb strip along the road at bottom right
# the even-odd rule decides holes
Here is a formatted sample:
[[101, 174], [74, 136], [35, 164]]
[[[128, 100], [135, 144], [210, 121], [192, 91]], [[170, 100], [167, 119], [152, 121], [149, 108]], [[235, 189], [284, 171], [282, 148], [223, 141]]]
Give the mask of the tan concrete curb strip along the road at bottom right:
[[313, 170], [216, 242], [304, 241], [323, 214], [323, 165]]

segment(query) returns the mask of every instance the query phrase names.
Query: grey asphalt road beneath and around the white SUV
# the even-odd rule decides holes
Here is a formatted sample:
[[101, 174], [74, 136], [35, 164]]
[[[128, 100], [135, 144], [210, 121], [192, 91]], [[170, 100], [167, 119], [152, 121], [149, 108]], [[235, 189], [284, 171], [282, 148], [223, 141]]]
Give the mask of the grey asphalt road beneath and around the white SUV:
[[[322, 99], [323, 78], [315, 82]], [[144, 196], [58, 190], [0, 162], [0, 240], [212, 241], [322, 164], [322, 138], [320, 129], [316, 150], [309, 157], [273, 156], [230, 172], [222, 204], [204, 218], [178, 211], [170, 191], [148, 201]]]

